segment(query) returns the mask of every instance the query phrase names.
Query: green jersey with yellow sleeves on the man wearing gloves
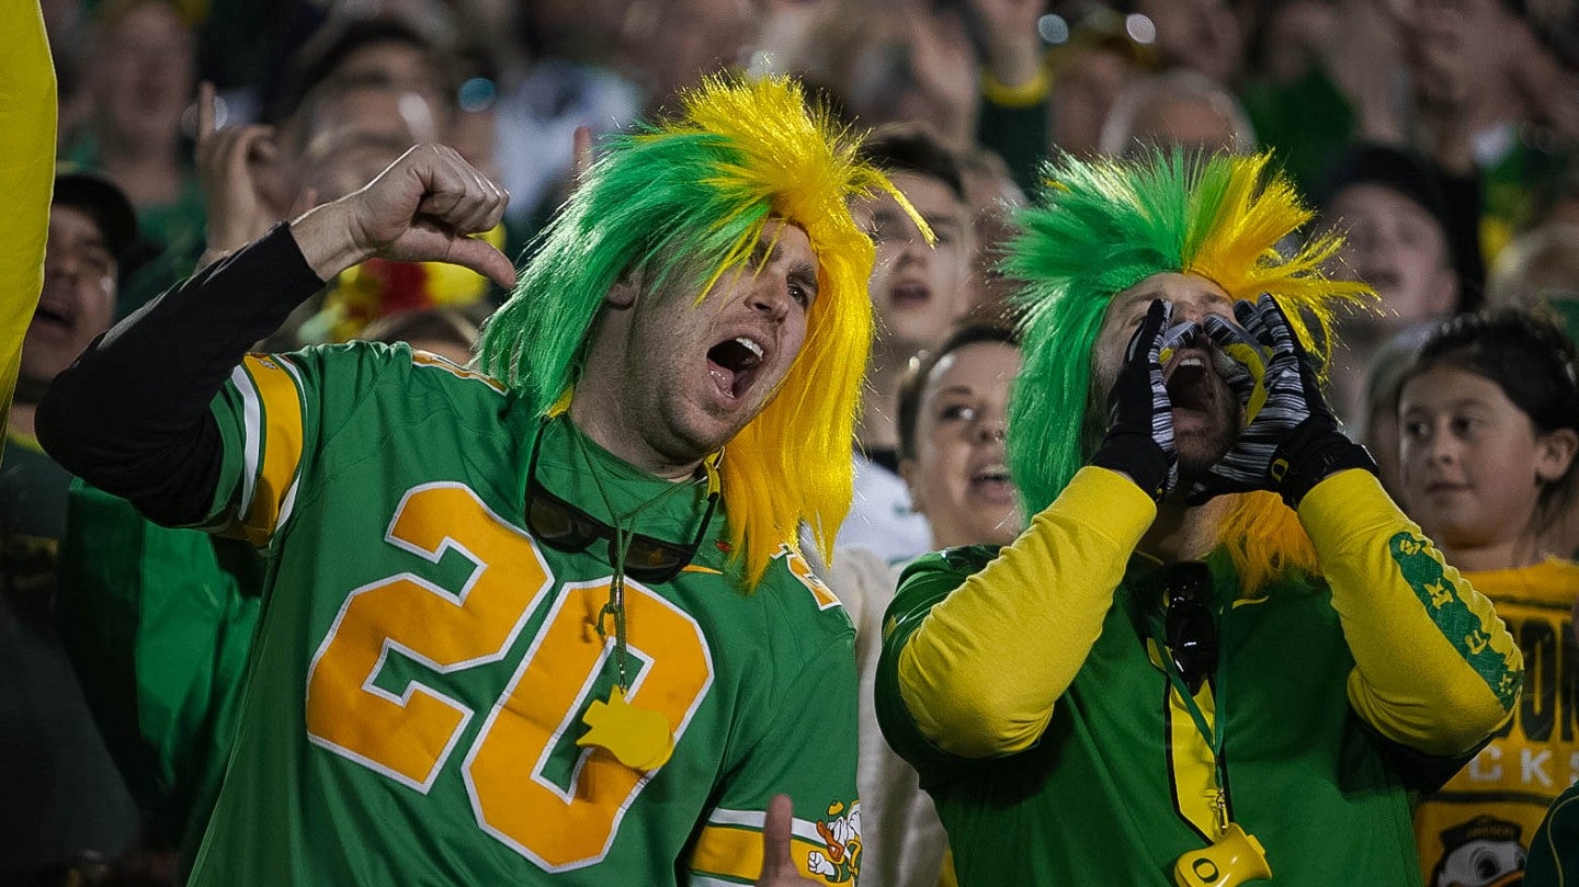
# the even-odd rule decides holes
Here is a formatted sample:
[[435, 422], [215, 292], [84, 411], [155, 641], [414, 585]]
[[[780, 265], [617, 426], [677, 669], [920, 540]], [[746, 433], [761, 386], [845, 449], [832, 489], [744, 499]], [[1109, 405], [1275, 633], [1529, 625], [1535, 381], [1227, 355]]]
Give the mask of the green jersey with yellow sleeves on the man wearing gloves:
[[[1208, 740], [1164, 671], [1154, 507], [1085, 469], [1001, 551], [913, 563], [884, 619], [878, 718], [921, 772], [958, 882], [1172, 884], [1213, 843]], [[1282, 884], [1418, 881], [1410, 799], [1505, 718], [1521, 657], [1484, 597], [1364, 472], [1311, 491], [1325, 578], [1246, 592], [1206, 559], [1227, 814]], [[1143, 590], [1148, 589], [1148, 590]]]

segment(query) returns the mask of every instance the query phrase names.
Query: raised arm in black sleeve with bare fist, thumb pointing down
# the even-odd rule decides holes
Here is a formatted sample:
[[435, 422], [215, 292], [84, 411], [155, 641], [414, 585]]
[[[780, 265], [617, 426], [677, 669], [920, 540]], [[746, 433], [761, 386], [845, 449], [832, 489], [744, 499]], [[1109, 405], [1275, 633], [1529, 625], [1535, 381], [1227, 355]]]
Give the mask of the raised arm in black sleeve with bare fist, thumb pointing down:
[[452, 262], [513, 286], [510, 260], [466, 237], [497, 224], [505, 199], [450, 148], [406, 152], [360, 191], [276, 226], [95, 341], [39, 404], [39, 442], [156, 521], [202, 519], [223, 458], [207, 407], [253, 342], [374, 256]]

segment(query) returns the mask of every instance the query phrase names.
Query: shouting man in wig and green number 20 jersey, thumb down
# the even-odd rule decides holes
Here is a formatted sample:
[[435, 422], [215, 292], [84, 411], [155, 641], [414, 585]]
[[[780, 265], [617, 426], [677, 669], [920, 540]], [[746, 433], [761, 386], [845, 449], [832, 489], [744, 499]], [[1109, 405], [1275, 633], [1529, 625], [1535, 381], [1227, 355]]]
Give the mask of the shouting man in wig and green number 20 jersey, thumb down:
[[57, 380], [63, 464], [268, 556], [193, 884], [853, 881], [853, 630], [794, 538], [850, 503], [846, 200], [892, 189], [854, 150], [788, 80], [711, 82], [589, 167], [482, 371], [243, 357], [369, 256], [515, 283], [463, 237], [502, 191], [418, 147]]

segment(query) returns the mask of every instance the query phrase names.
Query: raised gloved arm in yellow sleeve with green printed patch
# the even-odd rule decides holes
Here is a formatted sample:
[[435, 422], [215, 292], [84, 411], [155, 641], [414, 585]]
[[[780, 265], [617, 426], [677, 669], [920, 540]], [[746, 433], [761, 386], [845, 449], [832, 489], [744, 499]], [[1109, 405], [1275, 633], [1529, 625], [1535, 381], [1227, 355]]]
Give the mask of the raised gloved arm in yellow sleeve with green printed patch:
[[1298, 511], [1333, 589], [1355, 657], [1355, 712], [1426, 754], [1473, 750], [1513, 710], [1519, 647], [1491, 601], [1386, 497], [1364, 448], [1337, 431], [1277, 305], [1263, 295], [1235, 314], [1244, 333], [1217, 319], [1206, 331], [1263, 379], [1266, 398], [1194, 496], [1279, 492]]

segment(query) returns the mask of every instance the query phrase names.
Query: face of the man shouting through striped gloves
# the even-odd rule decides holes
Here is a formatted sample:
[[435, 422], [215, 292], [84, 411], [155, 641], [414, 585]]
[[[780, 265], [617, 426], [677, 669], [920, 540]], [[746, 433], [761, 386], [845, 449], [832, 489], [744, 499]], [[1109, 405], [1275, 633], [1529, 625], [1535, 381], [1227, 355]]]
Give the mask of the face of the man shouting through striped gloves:
[[[1233, 320], [1233, 303], [1217, 284], [1195, 275], [1151, 275], [1113, 297], [1091, 355], [1097, 398], [1093, 409], [1105, 410], [1107, 393], [1118, 380], [1124, 350], [1145, 319], [1153, 300], [1173, 303], [1173, 322], [1202, 324], [1208, 314]], [[1211, 339], [1197, 336], [1173, 354], [1162, 368], [1168, 399], [1173, 402], [1173, 437], [1178, 444], [1180, 473], [1205, 472], [1228, 451], [1240, 436], [1241, 407], [1217, 372], [1228, 360]]]

